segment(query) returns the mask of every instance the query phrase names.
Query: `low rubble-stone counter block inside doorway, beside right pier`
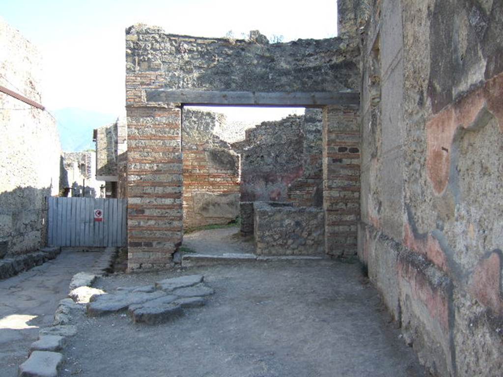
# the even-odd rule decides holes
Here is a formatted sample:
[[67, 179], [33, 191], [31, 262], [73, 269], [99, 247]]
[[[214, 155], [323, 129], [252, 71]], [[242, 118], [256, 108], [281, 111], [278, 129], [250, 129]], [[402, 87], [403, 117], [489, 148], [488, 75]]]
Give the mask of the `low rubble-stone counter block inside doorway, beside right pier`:
[[254, 234], [258, 255], [323, 254], [323, 210], [255, 202]]

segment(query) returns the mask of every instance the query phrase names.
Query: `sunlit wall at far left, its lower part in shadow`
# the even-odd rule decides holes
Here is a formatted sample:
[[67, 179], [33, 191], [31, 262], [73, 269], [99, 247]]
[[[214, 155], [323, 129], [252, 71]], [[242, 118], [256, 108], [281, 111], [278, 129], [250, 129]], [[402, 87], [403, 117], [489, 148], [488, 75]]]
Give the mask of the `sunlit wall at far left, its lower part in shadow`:
[[[41, 56], [0, 19], [0, 85], [43, 104]], [[46, 197], [58, 194], [60, 144], [46, 111], [0, 92], [0, 255], [42, 247]]]

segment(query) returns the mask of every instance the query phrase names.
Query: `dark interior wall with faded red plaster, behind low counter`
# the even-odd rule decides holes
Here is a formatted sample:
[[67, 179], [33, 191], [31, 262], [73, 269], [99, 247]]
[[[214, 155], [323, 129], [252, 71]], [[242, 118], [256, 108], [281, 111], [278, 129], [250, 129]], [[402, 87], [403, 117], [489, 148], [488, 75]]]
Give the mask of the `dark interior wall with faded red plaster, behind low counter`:
[[233, 143], [241, 155], [241, 201], [322, 205], [321, 110], [263, 122]]

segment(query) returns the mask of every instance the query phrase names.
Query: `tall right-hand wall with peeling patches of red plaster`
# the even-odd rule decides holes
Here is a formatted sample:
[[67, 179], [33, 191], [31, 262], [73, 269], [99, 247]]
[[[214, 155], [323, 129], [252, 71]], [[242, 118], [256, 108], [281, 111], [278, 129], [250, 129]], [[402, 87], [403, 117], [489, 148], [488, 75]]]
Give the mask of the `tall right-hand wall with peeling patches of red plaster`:
[[503, 3], [376, 4], [362, 46], [359, 256], [435, 375], [498, 375]]

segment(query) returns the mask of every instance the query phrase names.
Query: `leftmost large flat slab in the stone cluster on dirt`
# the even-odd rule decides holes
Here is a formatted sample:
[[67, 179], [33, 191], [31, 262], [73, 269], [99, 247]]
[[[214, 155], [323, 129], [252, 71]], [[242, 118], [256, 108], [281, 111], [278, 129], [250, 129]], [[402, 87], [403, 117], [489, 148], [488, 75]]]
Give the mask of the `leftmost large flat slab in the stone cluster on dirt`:
[[99, 317], [105, 314], [118, 312], [127, 309], [133, 304], [143, 304], [147, 301], [158, 299], [160, 297], [166, 296], [162, 291], [156, 291], [154, 293], [125, 293], [117, 295], [101, 295], [96, 297], [93, 296], [92, 302], [87, 305], [87, 313], [90, 317]]

